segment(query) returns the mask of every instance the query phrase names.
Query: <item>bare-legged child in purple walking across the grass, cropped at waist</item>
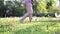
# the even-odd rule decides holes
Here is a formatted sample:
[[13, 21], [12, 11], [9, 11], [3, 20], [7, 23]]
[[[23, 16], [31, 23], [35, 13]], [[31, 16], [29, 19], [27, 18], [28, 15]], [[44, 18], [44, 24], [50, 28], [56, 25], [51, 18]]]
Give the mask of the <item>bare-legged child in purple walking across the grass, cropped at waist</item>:
[[23, 21], [26, 17], [29, 17], [29, 20], [31, 22], [32, 14], [33, 14], [31, 0], [24, 0], [24, 4], [25, 4], [26, 10], [27, 10], [27, 13], [24, 14], [24, 16], [20, 19], [20, 22], [23, 23]]

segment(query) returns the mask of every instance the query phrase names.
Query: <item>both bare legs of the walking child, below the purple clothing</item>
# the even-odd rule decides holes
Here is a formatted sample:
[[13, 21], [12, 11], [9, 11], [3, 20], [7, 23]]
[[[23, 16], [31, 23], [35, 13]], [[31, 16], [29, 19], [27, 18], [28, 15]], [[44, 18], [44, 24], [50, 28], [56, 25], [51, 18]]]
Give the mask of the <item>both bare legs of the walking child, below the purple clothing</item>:
[[27, 9], [27, 13], [21, 18], [20, 22], [23, 23], [24, 19], [26, 17], [29, 17], [29, 20], [31, 21], [32, 19], [32, 13], [33, 13], [33, 9], [32, 9], [32, 5], [31, 3], [26, 4], [26, 9]]

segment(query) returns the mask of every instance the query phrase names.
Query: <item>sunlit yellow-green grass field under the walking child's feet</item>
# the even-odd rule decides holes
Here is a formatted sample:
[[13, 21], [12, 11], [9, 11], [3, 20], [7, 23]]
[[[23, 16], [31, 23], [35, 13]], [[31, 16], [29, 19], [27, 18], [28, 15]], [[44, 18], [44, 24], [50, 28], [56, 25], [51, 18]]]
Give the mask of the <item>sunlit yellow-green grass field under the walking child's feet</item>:
[[60, 18], [33, 17], [32, 22], [27, 18], [23, 24], [19, 19], [0, 18], [0, 34], [60, 34]]

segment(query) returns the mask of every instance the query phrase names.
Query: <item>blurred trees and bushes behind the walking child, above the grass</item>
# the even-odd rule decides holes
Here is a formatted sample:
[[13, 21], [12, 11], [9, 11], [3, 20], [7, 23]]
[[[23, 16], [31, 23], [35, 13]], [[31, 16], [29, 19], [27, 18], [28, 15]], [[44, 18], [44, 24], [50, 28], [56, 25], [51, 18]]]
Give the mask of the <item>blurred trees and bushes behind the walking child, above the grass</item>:
[[[60, 13], [60, 0], [38, 0], [38, 5], [32, 7], [37, 9], [33, 16], [55, 17], [55, 12]], [[26, 13], [23, 0], [0, 0], [0, 17], [20, 17]]]

